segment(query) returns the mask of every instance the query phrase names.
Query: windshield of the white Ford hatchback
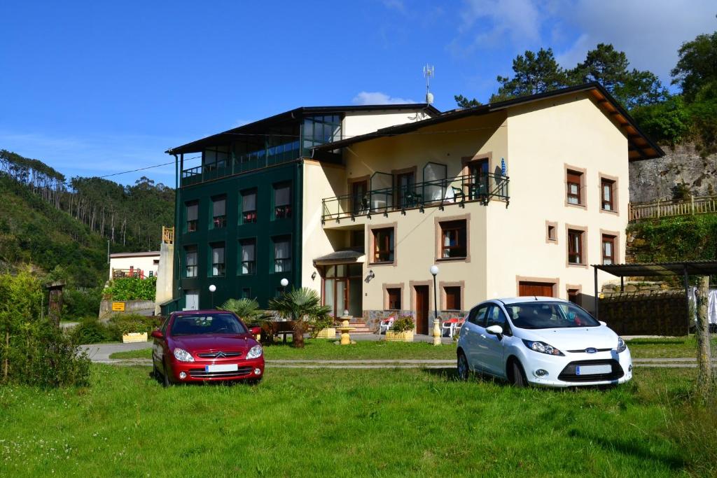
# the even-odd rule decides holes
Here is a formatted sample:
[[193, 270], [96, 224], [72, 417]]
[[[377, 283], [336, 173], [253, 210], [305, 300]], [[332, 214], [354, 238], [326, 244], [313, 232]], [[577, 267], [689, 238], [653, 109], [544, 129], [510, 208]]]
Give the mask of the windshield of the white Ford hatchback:
[[600, 322], [570, 302], [521, 302], [505, 305], [513, 325], [521, 329], [597, 327]]

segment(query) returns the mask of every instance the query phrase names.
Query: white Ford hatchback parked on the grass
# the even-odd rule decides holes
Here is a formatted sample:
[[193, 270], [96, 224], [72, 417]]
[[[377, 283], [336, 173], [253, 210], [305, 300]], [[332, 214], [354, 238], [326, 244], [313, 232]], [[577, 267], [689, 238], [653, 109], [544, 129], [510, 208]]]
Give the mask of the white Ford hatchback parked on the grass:
[[625, 341], [581, 307], [553, 297], [481, 302], [460, 329], [458, 376], [471, 372], [516, 386], [594, 386], [632, 378]]

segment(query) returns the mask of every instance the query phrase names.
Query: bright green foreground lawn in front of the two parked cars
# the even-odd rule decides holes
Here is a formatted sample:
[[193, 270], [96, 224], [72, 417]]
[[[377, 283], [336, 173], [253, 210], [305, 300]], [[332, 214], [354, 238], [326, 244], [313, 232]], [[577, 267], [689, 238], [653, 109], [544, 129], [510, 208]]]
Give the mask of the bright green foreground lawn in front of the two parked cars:
[[687, 475], [668, 424], [690, 370], [607, 391], [271, 368], [259, 386], [163, 389], [149, 372], [92, 365], [90, 388], [0, 387], [0, 476]]

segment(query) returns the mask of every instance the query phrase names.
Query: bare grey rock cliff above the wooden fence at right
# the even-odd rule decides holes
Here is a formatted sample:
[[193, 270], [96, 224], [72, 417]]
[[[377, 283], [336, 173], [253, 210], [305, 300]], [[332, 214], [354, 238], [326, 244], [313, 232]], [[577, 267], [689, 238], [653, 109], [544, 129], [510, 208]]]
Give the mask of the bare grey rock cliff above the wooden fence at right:
[[672, 199], [673, 187], [682, 183], [695, 196], [717, 194], [717, 154], [701, 158], [691, 144], [663, 149], [663, 158], [630, 163], [631, 202]]

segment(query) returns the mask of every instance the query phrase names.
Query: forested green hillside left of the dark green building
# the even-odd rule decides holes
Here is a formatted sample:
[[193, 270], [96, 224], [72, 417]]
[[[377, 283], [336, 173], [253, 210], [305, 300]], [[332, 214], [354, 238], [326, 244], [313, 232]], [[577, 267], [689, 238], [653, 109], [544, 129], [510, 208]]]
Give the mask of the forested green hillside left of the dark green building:
[[111, 252], [156, 250], [174, 224], [174, 190], [72, 178], [0, 150], [0, 272], [31, 267], [67, 282], [67, 318], [96, 315]]

